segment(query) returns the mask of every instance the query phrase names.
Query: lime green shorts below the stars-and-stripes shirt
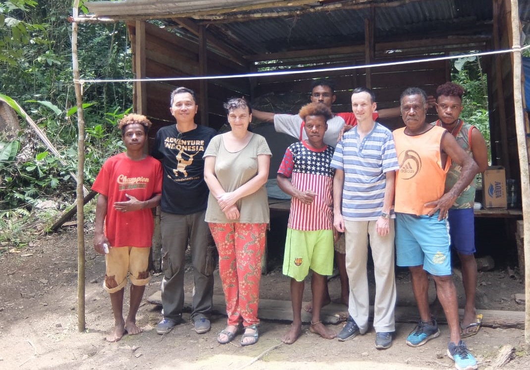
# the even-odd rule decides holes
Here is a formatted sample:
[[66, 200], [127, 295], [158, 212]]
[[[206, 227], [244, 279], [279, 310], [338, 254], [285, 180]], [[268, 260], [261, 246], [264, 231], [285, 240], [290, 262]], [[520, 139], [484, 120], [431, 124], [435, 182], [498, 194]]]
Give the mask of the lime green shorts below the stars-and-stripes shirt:
[[333, 231], [301, 231], [287, 228], [284, 275], [303, 281], [309, 269], [320, 275], [333, 272]]

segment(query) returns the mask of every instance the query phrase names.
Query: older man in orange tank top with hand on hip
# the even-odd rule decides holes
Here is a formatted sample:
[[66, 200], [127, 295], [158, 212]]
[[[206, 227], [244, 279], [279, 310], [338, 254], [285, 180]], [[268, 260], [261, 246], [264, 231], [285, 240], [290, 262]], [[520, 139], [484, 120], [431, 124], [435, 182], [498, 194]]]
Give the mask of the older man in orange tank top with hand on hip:
[[[457, 369], [478, 366], [460, 337], [456, 288], [451, 272], [447, 212], [478, 171], [473, 159], [444, 128], [426, 122], [427, 94], [408, 88], [401, 94], [405, 127], [394, 131], [399, 170], [395, 184], [395, 244], [399, 266], [408, 266], [420, 320], [407, 337], [407, 345], [418, 347], [438, 337], [428, 302], [430, 273], [444, 307], [451, 341], [447, 355]], [[462, 166], [455, 185], [445, 192], [445, 179], [452, 161]]]

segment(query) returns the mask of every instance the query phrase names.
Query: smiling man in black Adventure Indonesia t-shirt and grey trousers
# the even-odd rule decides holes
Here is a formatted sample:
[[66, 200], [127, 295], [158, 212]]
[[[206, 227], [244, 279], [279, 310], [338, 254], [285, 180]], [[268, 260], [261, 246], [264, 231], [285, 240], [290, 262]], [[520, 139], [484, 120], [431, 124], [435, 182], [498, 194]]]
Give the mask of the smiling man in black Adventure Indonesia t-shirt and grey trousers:
[[171, 93], [171, 114], [176, 124], [156, 133], [153, 157], [162, 161], [162, 315], [156, 325], [166, 334], [180, 323], [184, 305], [184, 253], [190, 246], [195, 280], [191, 318], [199, 334], [210, 330], [208, 315], [214, 292], [215, 246], [205, 222], [208, 186], [204, 181], [204, 153], [213, 128], [194, 122], [198, 110], [195, 92], [177, 88]]

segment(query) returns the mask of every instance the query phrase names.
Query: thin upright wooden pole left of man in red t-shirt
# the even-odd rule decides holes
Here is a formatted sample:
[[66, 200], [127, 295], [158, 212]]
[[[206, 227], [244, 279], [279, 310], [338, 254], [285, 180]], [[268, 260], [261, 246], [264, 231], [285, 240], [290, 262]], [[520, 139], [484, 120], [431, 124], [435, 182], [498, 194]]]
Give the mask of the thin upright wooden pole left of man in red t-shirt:
[[[73, 16], [77, 18], [79, 0], [74, 0]], [[74, 75], [75, 100], [77, 102], [77, 330], [85, 331], [85, 229], [83, 213], [83, 183], [85, 166], [85, 117], [83, 97], [79, 82], [77, 58], [77, 22], [72, 23], [72, 70]]]

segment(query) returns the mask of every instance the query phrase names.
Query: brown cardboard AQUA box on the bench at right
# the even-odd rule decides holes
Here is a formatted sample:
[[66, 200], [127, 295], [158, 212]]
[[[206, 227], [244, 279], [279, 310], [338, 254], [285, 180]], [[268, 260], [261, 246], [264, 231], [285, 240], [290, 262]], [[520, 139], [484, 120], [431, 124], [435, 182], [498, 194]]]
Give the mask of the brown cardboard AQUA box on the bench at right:
[[506, 172], [502, 166], [489, 166], [482, 176], [482, 206], [507, 209]]

